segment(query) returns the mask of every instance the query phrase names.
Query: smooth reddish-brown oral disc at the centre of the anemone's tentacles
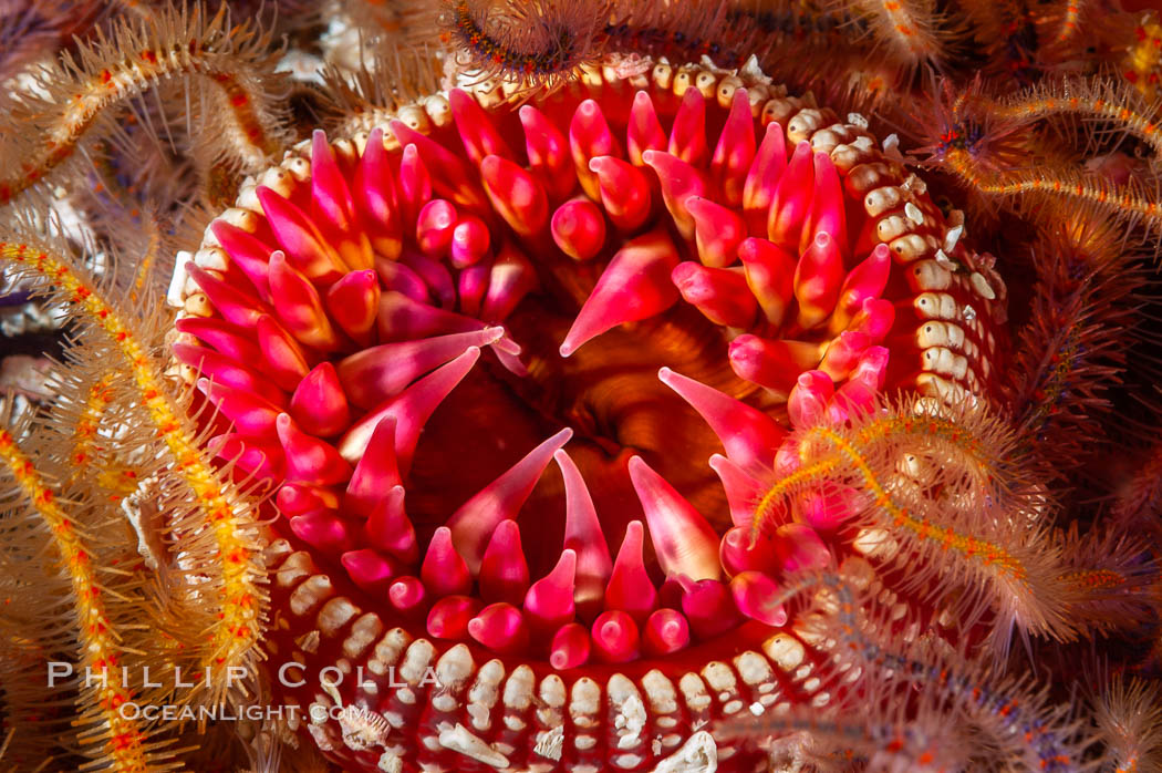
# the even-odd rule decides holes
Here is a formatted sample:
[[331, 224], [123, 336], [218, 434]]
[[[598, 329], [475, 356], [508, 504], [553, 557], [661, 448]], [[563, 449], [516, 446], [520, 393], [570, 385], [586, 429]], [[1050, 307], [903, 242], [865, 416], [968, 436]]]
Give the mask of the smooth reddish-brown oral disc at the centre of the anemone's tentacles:
[[[544, 298], [523, 301], [505, 328], [522, 342], [529, 373], [516, 375], [482, 358], [432, 414], [407, 486], [421, 543], [566, 428], [573, 436], [564, 451], [586, 481], [605, 544], [621, 545], [626, 525], [644, 517], [629, 477], [632, 457], [658, 471], [716, 531], [730, 528], [722, 484], [704, 464], [722, 446], [697, 413], [658, 379], [660, 368], [672, 367], [740, 396], [752, 392], [730, 371], [720, 334], [690, 309], [677, 308], [632, 329], [611, 330], [562, 358], [558, 348], [572, 318]], [[695, 459], [701, 464], [691, 464]], [[545, 577], [559, 557], [550, 546], [564, 545], [565, 504], [564, 479], [550, 471], [515, 518], [522, 544], [536, 546], [525, 550], [533, 578]], [[648, 544], [645, 561], [660, 585], [664, 577]]]

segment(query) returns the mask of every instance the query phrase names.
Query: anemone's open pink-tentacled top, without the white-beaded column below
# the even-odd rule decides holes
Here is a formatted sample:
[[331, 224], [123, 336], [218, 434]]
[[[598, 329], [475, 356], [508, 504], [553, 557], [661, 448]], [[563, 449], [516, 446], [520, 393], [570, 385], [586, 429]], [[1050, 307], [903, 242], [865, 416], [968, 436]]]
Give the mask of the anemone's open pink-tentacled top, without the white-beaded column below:
[[[849, 537], [817, 502], [751, 541], [788, 424], [988, 392], [1003, 285], [861, 120], [634, 78], [316, 133], [179, 272], [174, 353], [277, 489], [289, 615], [340, 587], [366, 630], [572, 673], [758, 646], [780, 573]], [[280, 608], [296, 657], [344, 604]]]

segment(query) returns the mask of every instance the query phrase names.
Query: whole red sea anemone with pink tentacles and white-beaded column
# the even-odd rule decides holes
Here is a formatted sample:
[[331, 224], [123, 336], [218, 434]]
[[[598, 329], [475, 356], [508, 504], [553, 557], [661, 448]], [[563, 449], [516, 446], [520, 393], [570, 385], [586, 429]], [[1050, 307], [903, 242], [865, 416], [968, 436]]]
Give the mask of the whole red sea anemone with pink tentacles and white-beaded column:
[[[1068, 627], [1040, 527], [961, 480], [1003, 473], [941, 457], [938, 480], [947, 449], [906, 442], [955, 422], [1004, 456], [983, 415], [1005, 287], [861, 116], [753, 63], [639, 59], [519, 107], [488, 87], [316, 131], [174, 278], [174, 353], [234, 427], [211, 448], [278, 492], [266, 647], [296, 664], [280, 700], [345, 713], [307, 723], [321, 749], [349, 770], [725, 760], [700, 725], [844, 689], [782, 589], [896, 541], [933, 559], [905, 588], [978, 579], [944, 581], [1004, 606], [1004, 642]], [[881, 417], [899, 389], [927, 400]], [[968, 513], [909, 486], [963, 487]]]

